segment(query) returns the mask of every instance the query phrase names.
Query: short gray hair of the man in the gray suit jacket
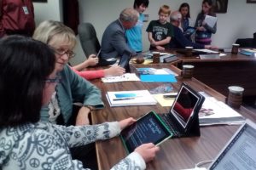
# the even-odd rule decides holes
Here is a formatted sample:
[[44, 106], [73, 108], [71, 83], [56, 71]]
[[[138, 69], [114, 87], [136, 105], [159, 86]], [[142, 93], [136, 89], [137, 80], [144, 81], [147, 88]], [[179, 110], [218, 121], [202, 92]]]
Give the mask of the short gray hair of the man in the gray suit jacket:
[[134, 8], [125, 8], [119, 15], [119, 20], [121, 21], [137, 21], [139, 13]]

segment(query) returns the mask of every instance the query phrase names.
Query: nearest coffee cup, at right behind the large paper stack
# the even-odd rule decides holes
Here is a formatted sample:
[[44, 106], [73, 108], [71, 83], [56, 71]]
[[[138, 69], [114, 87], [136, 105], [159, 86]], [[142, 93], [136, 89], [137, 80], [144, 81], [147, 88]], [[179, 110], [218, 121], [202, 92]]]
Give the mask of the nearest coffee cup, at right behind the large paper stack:
[[241, 88], [239, 86], [230, 86], [229, 87], [229, 96], [228, 96], [228, 105], [230, 107], [233, 107], [235, 109], [239, 109], [242, 102], [242, 94], [243, 94], [244, 88]]

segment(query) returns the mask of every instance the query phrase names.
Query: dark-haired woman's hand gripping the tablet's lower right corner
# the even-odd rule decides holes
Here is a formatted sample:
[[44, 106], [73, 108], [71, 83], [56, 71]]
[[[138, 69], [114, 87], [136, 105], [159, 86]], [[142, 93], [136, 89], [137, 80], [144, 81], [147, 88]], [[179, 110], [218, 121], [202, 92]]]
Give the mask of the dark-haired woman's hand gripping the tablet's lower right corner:
[[148, 143], [138, 146], [134, 151], [141, 155], [144, 161], [148, 162], [154, 159], [156, 152], [159, 150], [160, 148], [158, 146], [155, 146], [152, 143]]

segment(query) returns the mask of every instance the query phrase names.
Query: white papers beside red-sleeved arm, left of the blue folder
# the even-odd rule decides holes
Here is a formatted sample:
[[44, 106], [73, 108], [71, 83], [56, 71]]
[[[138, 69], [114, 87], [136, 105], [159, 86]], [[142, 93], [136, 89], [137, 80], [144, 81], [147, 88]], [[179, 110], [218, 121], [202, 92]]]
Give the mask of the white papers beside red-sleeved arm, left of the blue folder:
[[102, 82], [131, 82], [140, 81], [135, 73], [125, 73], [122, 76], [117, 77], [103, 77]]

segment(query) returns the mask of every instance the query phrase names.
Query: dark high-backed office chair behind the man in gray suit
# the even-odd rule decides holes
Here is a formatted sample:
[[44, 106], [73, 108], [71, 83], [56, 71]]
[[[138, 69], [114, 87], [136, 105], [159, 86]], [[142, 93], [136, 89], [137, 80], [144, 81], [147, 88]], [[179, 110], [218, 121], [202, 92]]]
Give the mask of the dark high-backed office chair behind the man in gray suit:
[[90, 23], [79, 24], [79, 39], [86, 57], [90, 54], [97, 54], [101, 48], [95, 28]]

